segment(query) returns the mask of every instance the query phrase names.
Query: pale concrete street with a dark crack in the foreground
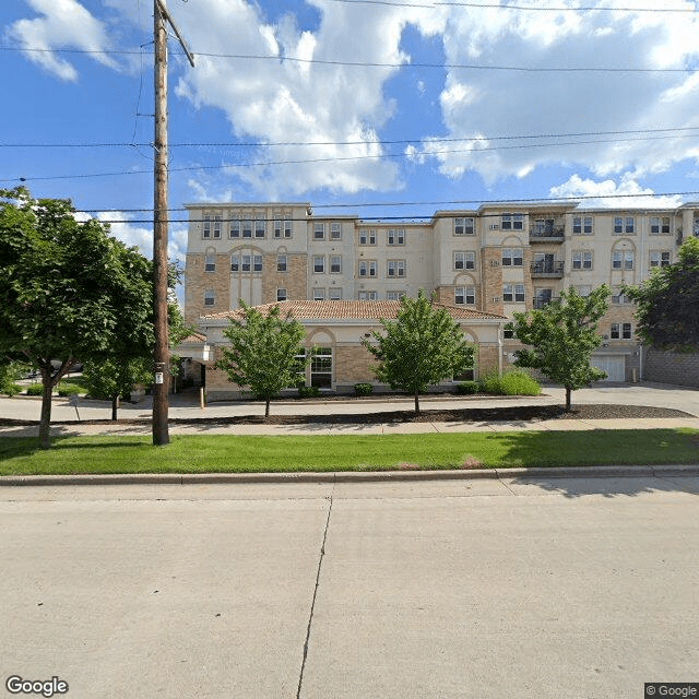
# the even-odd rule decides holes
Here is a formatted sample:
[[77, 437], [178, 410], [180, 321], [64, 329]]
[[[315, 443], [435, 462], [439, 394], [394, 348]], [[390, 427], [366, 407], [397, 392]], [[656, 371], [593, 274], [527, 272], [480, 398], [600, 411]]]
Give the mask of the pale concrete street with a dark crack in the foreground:
[[0, 486], [3, 685], [640, 699], [699, 682], [698, 495], [690, 475]]

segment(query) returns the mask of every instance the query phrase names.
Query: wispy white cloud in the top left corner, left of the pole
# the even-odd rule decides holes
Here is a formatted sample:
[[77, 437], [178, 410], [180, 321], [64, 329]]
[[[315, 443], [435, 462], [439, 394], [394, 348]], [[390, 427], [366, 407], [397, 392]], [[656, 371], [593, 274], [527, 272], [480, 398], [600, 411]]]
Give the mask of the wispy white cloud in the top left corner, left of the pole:
[[[9, 27], [9, 35], [27, 49], [29, 60], [42, 66], [61, 80], [78, 81], [74, 66], [52, 49], [78, 48], [100, 51], [109, 46], [104, 24], [76, 0], [27, 0], [42, 13], [35, 20], [19, 20]], [[104, 54], [91, 54], [94, 60], [110, 68], [117, 64]]]

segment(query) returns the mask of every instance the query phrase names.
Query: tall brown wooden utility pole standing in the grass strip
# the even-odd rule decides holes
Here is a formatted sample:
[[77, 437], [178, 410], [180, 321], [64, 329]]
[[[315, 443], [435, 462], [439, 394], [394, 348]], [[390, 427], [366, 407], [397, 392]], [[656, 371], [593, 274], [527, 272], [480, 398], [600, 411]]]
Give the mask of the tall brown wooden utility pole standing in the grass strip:
[[155, 43], [155, 135], [153, 197], [153, 317], [155, 350], [153, 352], [153, 445], [169, 443], [167, 425], [170, 352], [167, 333], [167, 29], [173, 27], [192, 68], [194, 59], [179, 35], [165, 0], [153, 0], [153, 36]]

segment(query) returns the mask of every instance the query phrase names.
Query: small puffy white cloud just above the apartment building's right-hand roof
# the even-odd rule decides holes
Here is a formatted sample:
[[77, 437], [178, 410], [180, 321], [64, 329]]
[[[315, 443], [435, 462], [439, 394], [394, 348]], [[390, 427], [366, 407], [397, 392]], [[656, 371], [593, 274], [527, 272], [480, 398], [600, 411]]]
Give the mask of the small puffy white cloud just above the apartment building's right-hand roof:
[[648, 206], [680, 206], [680, 197], [655, 197], [652, 189], [641, 187], [631, 174], [625, 174], [619, 181], [605, 179], [595, 181], [572, 175], [567, 182], [552, 187], [554, 198], [581, 198], [582, 206], [599, 209], [619, 209]]

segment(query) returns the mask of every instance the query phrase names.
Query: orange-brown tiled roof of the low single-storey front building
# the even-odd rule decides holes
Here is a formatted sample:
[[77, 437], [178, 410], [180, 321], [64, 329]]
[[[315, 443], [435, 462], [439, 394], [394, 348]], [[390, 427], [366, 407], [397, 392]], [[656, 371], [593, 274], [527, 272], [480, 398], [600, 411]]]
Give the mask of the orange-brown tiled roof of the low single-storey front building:
[[[256, 306], [263, 316], [274, 306], [280, 307], [282, 317], [291, 313], [296, 320], [345, 320], [345, 319], [367, 319], [387, 320], [398, 318], [401, 307], [400, 301], [280, 301], [279, 304], [263, 304]], [[454, 320], [507, 320], [505, 316], [486, 313], [472, 308], [461, 306], [447, 306], [445, 304], [433, 304], [434, 308], [443, 308]], [[217, 313], [201, 316], [201, 320], [242, 320], [245, 313], [241, 308], [226, 310]]]

